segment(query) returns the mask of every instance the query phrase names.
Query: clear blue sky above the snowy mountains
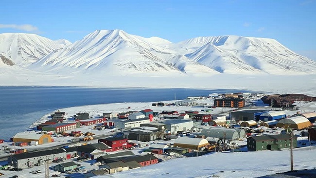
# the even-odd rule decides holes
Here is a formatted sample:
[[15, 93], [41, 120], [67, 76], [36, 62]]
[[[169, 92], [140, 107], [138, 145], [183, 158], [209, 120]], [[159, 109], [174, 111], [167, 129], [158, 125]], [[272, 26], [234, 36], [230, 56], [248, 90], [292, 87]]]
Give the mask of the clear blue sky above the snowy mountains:
[[100, 29], [179, 42], [274, 38], [316, 60], [316, 0], [1, 0], [0, 33], [79, 40]]

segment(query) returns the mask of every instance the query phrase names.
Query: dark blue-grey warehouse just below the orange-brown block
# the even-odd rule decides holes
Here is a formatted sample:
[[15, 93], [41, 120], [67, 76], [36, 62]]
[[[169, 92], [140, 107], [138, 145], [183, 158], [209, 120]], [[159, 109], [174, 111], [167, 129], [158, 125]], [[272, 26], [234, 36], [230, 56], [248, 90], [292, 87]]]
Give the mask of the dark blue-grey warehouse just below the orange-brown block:
[[267, 110], [241, 110], [241, 111], [233, 111], [229, 113], [231, 120], [235, 121], [259, 121], [260, 115], [263, 113], [267, 113]]

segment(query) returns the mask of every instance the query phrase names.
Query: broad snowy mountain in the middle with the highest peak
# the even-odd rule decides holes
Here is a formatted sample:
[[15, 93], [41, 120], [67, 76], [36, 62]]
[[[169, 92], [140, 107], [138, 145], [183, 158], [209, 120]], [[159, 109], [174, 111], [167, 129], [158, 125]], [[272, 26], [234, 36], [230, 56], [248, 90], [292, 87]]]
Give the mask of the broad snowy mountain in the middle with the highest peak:
[[122, 30], [97, 30], [70, 46], [49, 53], [32, 64], [30, 69], [58, 72], [67, 69], [67, 72], [112, 75], [217, 73], [185, 56], [182, 60], [175, 59], [176, 52], [164, 47], [170, 43], [158, 37], [129, 35]]

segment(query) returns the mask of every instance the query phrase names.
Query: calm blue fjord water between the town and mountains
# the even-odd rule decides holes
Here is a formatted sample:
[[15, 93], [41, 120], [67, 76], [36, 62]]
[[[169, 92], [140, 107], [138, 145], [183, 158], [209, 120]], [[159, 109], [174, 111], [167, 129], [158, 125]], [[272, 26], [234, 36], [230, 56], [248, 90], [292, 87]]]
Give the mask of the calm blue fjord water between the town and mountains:
[[154, 102], [208, 96], [210, 93], [249, 92], [228, 89], [108, 89], [80, 87], [0, 87], [0, 139], [23, 132], [56, 109], [122, 102]]

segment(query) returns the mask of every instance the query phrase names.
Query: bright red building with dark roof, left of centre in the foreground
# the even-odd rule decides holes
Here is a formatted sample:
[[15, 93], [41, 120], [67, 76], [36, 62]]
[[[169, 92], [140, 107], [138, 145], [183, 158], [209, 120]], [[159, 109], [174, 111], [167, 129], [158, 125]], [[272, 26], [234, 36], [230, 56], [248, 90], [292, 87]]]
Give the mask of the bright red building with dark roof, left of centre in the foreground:
[[98, 142], [104, 142], [107, 146], [112, 148], [112, 151], [132, 147], [132, 145], [128, 143], [128, 139], [124, 139], [123, 137], [109, 137], [105, 139], [99, 139]]

